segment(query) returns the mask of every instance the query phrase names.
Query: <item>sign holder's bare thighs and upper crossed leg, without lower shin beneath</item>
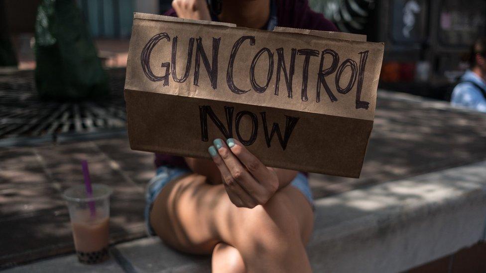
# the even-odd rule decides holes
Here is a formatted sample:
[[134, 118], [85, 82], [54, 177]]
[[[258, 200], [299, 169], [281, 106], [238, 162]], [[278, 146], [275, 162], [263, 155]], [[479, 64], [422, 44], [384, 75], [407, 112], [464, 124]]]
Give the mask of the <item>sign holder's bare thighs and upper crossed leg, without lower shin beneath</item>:
[[211, 254], [224, 242], [238, 250], [248, 272], [311, 272], [304, 244], [314, 217], [302, 193], [287, 186], [263, 206], [238, 208], [222, 184], [205, 180], [193, 174], [172, 181], [155, 200], [151, 224], [165, 243]]

